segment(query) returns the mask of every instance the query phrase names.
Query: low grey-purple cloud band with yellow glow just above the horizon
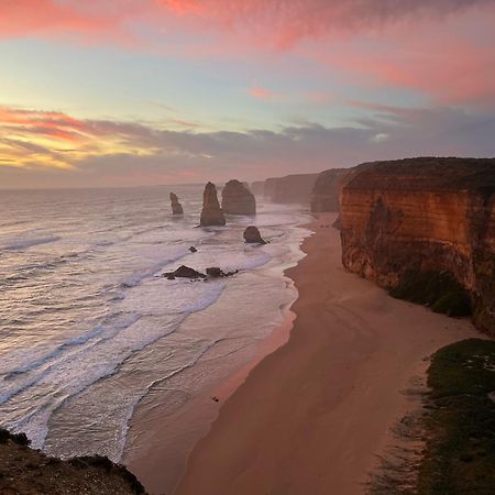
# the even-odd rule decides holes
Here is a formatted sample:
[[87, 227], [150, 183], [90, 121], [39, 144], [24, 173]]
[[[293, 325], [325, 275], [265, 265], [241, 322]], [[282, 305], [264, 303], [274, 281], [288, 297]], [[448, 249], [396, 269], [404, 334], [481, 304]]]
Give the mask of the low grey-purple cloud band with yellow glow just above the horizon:
[[[238, 177], [320, 172], [371, 160], [417, 155], [494, 156], [495, 117], [457, 108], [398, 108], [354, 102], [370, 117], [349, 127], [328, 128], [301, 122], [279, 130], [245, 132], [170, 131], [132, 122], [79, 120], [58, 116], [84, 129], [86, 140], [70, 153], [58, 151], [64, 140], [40, 144], [37, 134], [1, 140], [2, 187], [132, 186], [177, 184]], [[10, 114], [9, 112], [6, 112]], [[25, 120], [45, 120], [56, 112], [12, 111]], [[24, 123], [23, 123], [24, 125]], [[26, 125], [26, 129], [31, 129]], [[0, 128], [1, 131], [1, 128]], [[14, 170], [12, 164], [20, 169]], [[8, 166], [10, 165], [10, 166]], [[57, 168], [57, 170], [55, 170]]]

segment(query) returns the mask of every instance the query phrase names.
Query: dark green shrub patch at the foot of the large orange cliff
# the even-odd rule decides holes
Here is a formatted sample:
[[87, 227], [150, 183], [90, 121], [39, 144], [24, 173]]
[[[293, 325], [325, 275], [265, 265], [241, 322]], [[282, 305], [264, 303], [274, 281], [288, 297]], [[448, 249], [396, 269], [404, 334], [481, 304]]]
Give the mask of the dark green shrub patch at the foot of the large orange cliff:
[[469, 292], [447, 272], [408, 272], [391, 289], [391, 296], [429, 306], [450, 317], [472, 315]]

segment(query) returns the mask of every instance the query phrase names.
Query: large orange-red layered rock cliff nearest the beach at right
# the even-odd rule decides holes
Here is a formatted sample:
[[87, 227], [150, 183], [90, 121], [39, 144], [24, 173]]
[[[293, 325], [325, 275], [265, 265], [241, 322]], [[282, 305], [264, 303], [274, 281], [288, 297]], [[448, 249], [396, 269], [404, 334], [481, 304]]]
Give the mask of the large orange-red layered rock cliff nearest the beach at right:
[[475, 324], [495, 334], [495, 160], [360, 165], [340, 217], [345, 268], [397, 294], [429, 293], [437, 308], [463, 304], [463, 289]]

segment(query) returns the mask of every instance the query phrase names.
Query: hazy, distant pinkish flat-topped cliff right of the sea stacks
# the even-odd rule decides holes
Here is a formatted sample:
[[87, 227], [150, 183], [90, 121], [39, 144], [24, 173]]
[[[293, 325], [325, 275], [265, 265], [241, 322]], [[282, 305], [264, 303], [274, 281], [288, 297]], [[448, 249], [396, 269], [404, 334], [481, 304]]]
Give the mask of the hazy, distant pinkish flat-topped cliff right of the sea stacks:
[[273, 202], [307, 205], [318, 174], [286, 175], [265, 180], [264, 197]]

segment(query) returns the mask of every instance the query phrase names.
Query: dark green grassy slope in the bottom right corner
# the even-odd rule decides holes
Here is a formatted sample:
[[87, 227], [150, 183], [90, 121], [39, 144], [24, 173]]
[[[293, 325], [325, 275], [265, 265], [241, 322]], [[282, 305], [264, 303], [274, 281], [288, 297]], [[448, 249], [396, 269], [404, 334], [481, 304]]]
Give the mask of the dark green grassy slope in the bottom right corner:
[[428, 371], [419, 494], [495, 494], [495, 342], [469, 339], [438, 351]]

